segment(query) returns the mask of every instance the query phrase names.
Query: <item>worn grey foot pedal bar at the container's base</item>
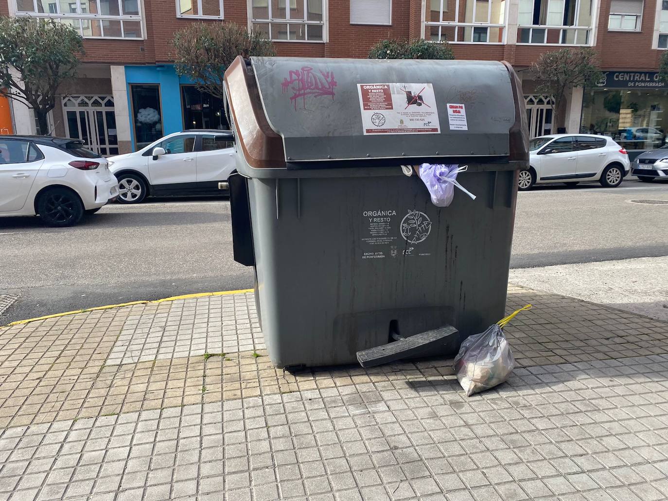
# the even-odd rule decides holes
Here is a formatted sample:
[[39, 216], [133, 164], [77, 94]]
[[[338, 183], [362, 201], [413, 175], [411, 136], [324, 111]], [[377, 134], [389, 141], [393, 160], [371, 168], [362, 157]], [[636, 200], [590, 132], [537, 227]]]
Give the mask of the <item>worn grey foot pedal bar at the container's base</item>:
[[[357, 361], [362, 367], [374, 367], [383, 363], [393, 362], [402, 358], [415, 357], [444, 345], [446, 339], [458, 336], [457, 329], [452, 325], [444, 325], [438, 329], [415, 334], [410, 337], [401, 337], [395, 333], [392, 337], [395, 341], [357, 352]], [[425, 353], [426, 355], [426, 353]]]

